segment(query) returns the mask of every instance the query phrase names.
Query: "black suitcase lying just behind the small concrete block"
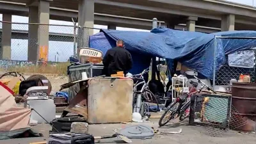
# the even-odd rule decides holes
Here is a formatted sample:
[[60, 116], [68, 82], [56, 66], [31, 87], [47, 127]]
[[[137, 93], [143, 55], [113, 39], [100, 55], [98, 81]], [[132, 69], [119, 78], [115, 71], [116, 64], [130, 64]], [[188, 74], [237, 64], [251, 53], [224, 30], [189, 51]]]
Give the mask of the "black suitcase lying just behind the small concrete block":
[[[72, 122], [87, 122], [86, 118], [80, 116], [67, 116], [52, 120], [52, 132], [70, 132]], [[55, 128], [55, 129], [54, 129]]]

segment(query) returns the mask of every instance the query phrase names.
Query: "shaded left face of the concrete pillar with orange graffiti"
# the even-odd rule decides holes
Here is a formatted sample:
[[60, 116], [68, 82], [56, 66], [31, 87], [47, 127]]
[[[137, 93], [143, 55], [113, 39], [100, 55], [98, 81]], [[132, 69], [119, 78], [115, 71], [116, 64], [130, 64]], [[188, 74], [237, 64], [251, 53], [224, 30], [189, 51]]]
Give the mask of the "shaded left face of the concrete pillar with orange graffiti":
[[[38, 23], [38, 7], [29, 6], [29, 23]], [[28, 61], [36, 61], [39, 58], [38, 49], [38, 25], [28, 26]]]

